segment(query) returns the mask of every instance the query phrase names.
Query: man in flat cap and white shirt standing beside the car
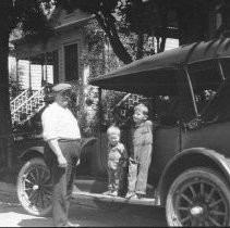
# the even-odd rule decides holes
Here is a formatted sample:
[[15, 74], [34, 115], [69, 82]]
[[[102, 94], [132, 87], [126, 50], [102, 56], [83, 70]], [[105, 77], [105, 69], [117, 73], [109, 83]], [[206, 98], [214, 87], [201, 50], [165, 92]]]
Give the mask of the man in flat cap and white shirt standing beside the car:
[[81, 132], [76, 118], [68, 109], [72, 87], [52, 87], [53, 103], [41, 115], [45, 161], [52, 178], [52, 221], [56, 227], [75, 227], [68, 221], [76, 163], [80, 159]]

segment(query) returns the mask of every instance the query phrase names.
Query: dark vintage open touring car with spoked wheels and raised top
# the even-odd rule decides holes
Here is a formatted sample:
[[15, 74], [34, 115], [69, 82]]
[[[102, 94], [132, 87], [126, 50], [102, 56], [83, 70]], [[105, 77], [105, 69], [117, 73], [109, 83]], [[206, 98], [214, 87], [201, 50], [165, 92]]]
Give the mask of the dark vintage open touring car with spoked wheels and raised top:
[[[169, 226], [230, 226], [229, 75], [230, 39], [221, 39], [165, 51], [90, 80], [100, 92], [148, 98], [152, 117], [157, 116], [148, 175], [153, 198], [113, 201], [164, 206]], [[166, 105], [157, 105], [157, 100]], [[78, 186], [77, 191], [102, 200], [107, 137], [105, 128], [98, 129], [96, 138], [83, 143], [76, 187], [77, 178], [92, 180], [90, 188]], [[17, 178], [19, 199], [34, 215], [46, 215], [51, 206], [43, 150], [28, 148], [21, 155], [25, 164]]]

